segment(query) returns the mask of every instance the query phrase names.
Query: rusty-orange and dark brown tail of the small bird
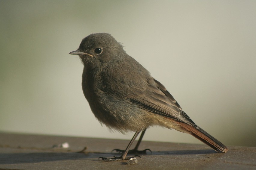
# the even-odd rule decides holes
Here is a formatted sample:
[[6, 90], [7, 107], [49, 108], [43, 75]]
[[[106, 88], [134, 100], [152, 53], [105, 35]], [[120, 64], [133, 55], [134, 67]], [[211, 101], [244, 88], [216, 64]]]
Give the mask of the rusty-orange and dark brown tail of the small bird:
[[227, 152], [228, 149], [225, 145], [223, 145], [220, 141], [212, 137], [209, 133], [201, 129], [200, 127], [194, 128], [191, 125], [185, 124], [183, 127], [195, 138], [199, 139], [200, 141], [204, 142], [206, 145], [209, 145], [217, 152]]

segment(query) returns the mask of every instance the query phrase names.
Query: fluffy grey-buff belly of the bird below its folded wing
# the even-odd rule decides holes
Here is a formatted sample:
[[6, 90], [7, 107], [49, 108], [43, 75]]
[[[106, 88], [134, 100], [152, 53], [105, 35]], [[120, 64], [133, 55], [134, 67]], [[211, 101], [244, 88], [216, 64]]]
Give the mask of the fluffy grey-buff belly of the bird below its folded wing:
[[[122, 133], [141, 131], [154, 124], [153, 114], [129, 99], [120, 99], [105, 92], [84, 88], [84, 95], [99, 122]], [[152, 115], [152, 116], [151, 116]], [[152, 117], [152, 119], [150, 119]]]

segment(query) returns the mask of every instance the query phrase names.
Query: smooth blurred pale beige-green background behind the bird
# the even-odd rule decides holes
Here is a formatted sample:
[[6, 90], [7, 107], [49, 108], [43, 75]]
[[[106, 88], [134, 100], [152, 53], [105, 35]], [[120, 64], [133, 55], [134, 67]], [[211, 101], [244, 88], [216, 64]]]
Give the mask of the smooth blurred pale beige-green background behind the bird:
[[[256, 1], [0, 1], [0, 131], [131, 139], [95, 119], [68, 53], [107, 32], [225, 145], [256, 146]], [[201, 143], [149, 128], [144, 140]]]

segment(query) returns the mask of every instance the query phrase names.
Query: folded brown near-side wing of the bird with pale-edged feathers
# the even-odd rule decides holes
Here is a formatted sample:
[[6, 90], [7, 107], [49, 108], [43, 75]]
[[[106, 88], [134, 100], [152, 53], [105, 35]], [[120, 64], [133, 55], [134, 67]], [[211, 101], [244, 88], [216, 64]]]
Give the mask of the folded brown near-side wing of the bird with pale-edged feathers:
[[[120, 98], [126, 98], [152, 113], [198, 128], [166, 88], [151, 76], [147, 77], [143, 79], [129, 78], [129, 80], [134, 80], [129, 82], [121, 82], [117, 79], [111, 80], [111, 86], [107, 86], [108, 92], [119, 95]], [[136, 81], [136, 79], [139, 81]], [[120, 86], [120, 84], [123, 84], [123, 86]]]

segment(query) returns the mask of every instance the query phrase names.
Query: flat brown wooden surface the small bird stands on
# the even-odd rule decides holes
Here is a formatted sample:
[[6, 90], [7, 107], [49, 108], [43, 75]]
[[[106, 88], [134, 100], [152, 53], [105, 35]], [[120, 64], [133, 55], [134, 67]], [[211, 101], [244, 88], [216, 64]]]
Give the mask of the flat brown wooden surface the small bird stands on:
[[[70, 148], [54, 149], [68, 142]], [[229, 146], [227, 153], [216, 153], [207, 145], [142, 141], [138, 163], [104, 162], [99, 157], [120, 156], [114, 148], [125, 149], [129, 141], [0, 133], [0, 169], [256, 169], [256, 148]], [[85, 153], [77, 153], [87, 147]]]

